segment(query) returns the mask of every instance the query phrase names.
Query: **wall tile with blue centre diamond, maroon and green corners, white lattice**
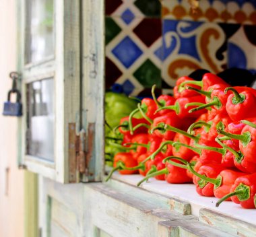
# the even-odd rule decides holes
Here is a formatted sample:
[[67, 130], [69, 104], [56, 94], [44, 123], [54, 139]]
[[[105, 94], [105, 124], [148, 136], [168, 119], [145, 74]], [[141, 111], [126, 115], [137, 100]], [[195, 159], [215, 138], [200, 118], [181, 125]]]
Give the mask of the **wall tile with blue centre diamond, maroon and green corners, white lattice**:
[[161, 88], [162, 61], [155, 53], [162, 45], [161, 20], [135, 17], [127, 24], [127, 18], [124, 20], [122, 16], [107, 18], [111, 24], [106, 24], [106, 32], [108, 26], [121, 30], [111, 30], [118, 34], [106, 40], [106, 88], [119, 84], [123, 92], [133, 96], [150, 89], [154, 83]]

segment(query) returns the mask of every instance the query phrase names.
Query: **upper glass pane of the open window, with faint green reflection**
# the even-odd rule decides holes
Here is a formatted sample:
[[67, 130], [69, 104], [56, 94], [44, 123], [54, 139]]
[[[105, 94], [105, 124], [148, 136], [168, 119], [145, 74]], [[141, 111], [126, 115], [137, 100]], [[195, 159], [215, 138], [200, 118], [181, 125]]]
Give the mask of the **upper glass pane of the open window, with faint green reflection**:
[[25, 63], [54, 55], [54, 0], [26, 1]]

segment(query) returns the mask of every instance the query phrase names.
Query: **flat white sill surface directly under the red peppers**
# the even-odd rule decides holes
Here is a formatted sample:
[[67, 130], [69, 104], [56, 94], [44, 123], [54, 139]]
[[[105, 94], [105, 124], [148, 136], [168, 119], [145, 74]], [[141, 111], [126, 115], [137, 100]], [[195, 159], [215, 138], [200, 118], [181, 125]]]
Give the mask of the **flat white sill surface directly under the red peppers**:
[[[121, 175], [117, 172], [113, 174], [114, 180], [124, 182], [133, 187], [136, 187], [137, 182], [139, 182], [142, 177], [143, 176], [139, 174]], [[231, 201], [225, 201], [220, 207], [215, 207], [218, 199], [215, 197], [201, 197], [196, 193], [195, 185], [193, 184], [168, 184], [167, 182], [150, 178], [149, 182], [144, 182], [138, 189], [189, 203], [191, 205], [191, 214], [196, 217], [200, 216], [201, 209], [209, 209], [225, 217], [234, 218], [236, 221], [243, 221], [253, 225], [256, 224], [255, 209], [243, 209], [240, 205], [236, 205]]]

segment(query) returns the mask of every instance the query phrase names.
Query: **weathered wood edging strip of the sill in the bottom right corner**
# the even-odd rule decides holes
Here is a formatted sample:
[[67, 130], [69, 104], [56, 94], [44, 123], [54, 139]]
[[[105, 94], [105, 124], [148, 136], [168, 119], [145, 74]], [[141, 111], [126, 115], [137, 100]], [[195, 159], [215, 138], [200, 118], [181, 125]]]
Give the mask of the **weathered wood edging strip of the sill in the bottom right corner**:
[[[220, 207], [221, 208], [221, 207]], [[239, 208], [239, 207], [238, 207]], [[228, 217], [216, 211], [210, 209], [201, 209], [199, 213], [199, 221], [209, 226], [213, 226], [222, 230], [234, 234], [235, 236], [247, 236], [253, 237], [256, 235], [256, 226], [243, 222], [233, 217]], [[254, 218], [256, 224], [256, 219]]]

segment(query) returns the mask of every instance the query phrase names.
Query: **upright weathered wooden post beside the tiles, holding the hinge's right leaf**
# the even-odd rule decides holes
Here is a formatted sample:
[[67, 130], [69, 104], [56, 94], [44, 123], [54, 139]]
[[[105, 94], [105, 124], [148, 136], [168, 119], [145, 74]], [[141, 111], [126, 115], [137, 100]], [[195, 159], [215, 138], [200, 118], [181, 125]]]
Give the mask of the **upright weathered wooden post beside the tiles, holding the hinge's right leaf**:
[[83, 182], [100, 181], [104, 174], [104, 28], [104, 0], [82, 1], [82, 127], [93, 140]]

